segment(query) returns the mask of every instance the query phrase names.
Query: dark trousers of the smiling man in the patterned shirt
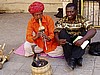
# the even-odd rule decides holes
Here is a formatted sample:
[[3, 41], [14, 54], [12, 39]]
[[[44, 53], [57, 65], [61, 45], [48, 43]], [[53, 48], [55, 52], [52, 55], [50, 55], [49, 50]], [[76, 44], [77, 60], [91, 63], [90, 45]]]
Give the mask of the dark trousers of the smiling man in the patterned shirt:
[[[84, 36], [85, 34], [86, 32], [82, 32], [81, 36]], [[65, 29], [62, 29], [59, 33], [59, 39], [66, 39], [70, 43], [72, 43], [76, 37], [77, 36], [73, 37], [69, 35]], [[64, 57], [66, 61], [70, 58], [75, 58], [75, 59], [81, 58], [85, 53], [84, 49], [82, 49], [81, 47], [75, 46], [74, 44], [70, 45], [66, 43], [62, 45], [62, 47], [63, 47]]]

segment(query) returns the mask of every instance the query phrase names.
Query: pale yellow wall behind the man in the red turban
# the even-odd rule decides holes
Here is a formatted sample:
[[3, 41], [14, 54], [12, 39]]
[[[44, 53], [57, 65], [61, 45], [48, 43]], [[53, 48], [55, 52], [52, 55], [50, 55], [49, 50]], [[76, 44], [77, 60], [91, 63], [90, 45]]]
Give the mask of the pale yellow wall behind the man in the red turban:
[[28, 6], [34, 1], [41, 1], [45, 5], [45, 12], [57, 12], [62, 7], [62, 1], [70, 0], [0, 0], [0, 12], [28, 12]]

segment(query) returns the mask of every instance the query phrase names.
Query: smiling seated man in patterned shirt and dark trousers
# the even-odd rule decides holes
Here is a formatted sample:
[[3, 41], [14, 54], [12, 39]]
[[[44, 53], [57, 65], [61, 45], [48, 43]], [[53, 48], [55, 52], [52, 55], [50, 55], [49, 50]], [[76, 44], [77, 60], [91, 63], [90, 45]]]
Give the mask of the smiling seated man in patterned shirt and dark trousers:
[[[69, 3], [66, 6], [66, 16], [56, 22], [55, 37], [63, 47], [68, 65], [74, 69], [82, 66], [82, 56], [85, 53], [81, 45], [96, 34], [92, 22], [77, 14], [77, 6]], [[77, 36], [80, 39], [73, 42]]]

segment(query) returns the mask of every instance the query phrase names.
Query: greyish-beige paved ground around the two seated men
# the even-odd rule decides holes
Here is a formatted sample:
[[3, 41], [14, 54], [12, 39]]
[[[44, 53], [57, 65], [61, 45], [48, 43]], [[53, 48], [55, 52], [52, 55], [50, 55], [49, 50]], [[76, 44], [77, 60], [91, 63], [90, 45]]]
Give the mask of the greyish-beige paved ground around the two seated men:
[[[54, 21], [57, 20], [53, 15], [55, 13], [45, 13], [50, 15]], [[12, 48], [17, 49], [25, 41], [25, 31], [30, 14], [0, 14], [0, 44], [6, 43], [5, 54]], [[100, 41], [100, 30], [98, 29], [96, 36], [92, 39]], [[83, 57], [83, 66], [77, 67], [74, 71], [68, 68], [65, 59], [49, 58], [46, 59], [52, 66], [53, 75], [99, 75], [100, 73], [100, 57], [91, 56], [85, 53]], [[26, 58], [16, 54], [12, 54], [10, 60], [3, 65], [0, 75], [31, 75], [32, 57]]]

